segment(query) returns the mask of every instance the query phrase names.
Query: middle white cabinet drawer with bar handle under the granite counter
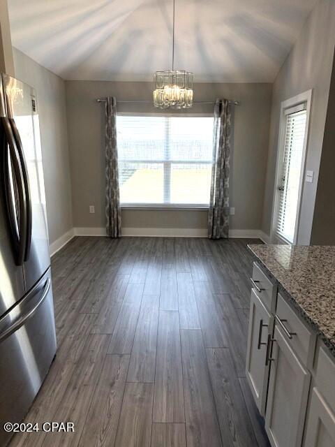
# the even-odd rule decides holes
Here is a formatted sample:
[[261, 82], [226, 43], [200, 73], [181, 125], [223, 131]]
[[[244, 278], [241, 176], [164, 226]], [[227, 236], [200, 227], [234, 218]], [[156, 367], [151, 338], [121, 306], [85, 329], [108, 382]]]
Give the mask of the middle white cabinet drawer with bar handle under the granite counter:
[[297, 353], [304, 365], [311, 366], [313, 353], [315, 352], [316, 335], [300, 320], [280, 293], [278, 293], [277, 300], [276, 325], [281, 328], [291, 348]]

